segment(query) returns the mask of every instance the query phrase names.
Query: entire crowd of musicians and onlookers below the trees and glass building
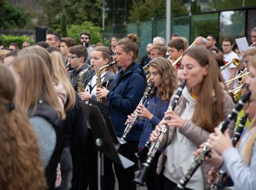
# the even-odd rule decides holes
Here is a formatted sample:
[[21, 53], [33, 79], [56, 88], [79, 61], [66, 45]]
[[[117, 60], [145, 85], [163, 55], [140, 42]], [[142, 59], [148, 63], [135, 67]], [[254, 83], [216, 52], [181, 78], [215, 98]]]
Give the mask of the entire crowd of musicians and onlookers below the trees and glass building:
[[[256, 27], [251, 36], [256, 42]], [[102, 189], [114, 190], [116, 179], [120, 190], [136, 189], [136, 170], [148, 159], [140, 157], [141, 165], [136, 152], [149, 140], [157, 145], [143, 179], [149, 190], [175, 189], [204, 146], [211, 157], [184, 189], [210, 189], [220, 169], [227, 172], [220, 186], [256, 189], [256, 45], [238, 52], [233, 40], [224, 38], [220, 50], [213, 34], [198, 36], [192, 44], [172, 34], [167, 45], [164, 38], [153, 38], [143, 57], [137, 34], [113, 36], [109, 46], [93, 47], [90, 39], [83, 32], [75, 45], [74, 39], [49, 32], [46, 41], [24, 42], [21, 50], [16, 43], [8, 50], [1, 47], [1, 189], [64, 190], [71, 172], [71, 190], [98, 189], [92, 130], [97, 126], [89, 125], [81, 108], [92, 100], [107, 107], [112, 129], [125, 140], [117, 152], [135, 163], [125, 169], [104, 156]], [[218, 126], [246, 91], [251, 97], [221, 133]], [[230, 139], [245, 114], [234, 147]], [[160, 142], [163, 126], [167, 131]]]

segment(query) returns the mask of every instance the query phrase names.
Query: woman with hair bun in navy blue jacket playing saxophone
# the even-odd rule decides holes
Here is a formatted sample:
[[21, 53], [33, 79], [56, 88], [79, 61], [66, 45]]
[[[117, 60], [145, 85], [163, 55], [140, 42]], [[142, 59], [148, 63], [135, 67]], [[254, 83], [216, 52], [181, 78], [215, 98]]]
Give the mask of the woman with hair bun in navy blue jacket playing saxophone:
[[[117, 137], [122, 137], [125, 130], [127, 116], [133, 113], [143, 95], [147, 79], [143, 68], [136, 62], [139, 55], [139, 38], [135, 34], [128, 34], [126, 38], [117, 42], [116, 55], [117, 67], [121, 67], [114, 77], [114, 87], [111, 91], [106, 88], [97, 88], [97, 98], [105, 98], [108, 103], [108, 113], [116, 131]], [[126, 136], [126, 143], [119, 149], [120, 154], [135, 161], [134, 153], [137, 151], [140, 131], [131, 129]], [[134, 166], [123, 169], [114, 163], [119, 189], [136, 189], [133, 182]]]

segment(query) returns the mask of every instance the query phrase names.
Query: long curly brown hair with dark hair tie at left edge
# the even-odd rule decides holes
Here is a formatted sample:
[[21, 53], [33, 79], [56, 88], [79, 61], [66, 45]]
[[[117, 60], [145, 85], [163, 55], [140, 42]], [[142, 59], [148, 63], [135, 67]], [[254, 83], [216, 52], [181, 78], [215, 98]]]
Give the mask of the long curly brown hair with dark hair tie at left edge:
[[36, 134], [14, 103], [15, 88], [12, 73], [0, 65], [0, 189], [47, 189]]

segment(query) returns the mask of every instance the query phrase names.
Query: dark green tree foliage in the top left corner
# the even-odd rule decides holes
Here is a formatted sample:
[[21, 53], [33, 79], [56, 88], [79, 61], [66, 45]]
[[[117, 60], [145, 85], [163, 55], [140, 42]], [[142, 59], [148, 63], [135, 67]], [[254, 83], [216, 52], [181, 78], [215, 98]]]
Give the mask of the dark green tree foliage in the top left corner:
[[27, 24], [24, 9], [0, 0], [0, 29], [24, 28]]

